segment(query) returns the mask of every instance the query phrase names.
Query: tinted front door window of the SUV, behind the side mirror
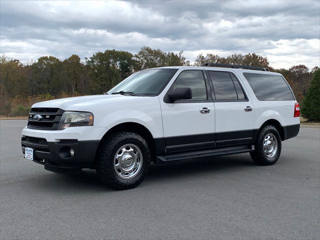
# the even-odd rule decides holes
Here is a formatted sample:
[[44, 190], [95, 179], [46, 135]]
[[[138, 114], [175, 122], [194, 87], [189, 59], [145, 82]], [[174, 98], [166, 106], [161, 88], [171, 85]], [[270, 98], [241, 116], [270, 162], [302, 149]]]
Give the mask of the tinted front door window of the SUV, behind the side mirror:
[[[186, 100], [206, 100], [206, 86], [201, 70], [185, 70], [180, 73], [172, 84], [173, 91], [178, 87], [190, 87], [192, 91], [192, 98]], [[183, 101], [183, 100], [181, 100]]]

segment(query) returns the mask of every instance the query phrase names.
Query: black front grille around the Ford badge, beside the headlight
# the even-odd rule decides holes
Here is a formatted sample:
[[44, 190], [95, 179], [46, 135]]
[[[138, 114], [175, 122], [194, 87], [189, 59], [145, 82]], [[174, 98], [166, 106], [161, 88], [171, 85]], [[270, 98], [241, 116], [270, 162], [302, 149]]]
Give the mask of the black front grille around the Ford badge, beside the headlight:
[[[27, 127], [43, 130], [57, 130], [58, 124], [63, 114], [63, 110], [52, 107], [31, 108]], [[40, 115], [40, 119], [34, 118], [34, 115]]]

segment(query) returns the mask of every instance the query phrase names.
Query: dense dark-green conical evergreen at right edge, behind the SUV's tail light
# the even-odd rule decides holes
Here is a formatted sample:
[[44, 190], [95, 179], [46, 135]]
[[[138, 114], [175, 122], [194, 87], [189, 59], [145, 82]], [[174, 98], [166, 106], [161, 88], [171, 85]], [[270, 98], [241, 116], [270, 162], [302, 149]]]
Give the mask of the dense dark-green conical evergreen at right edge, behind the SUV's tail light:
[[320, 120], [320, 70], [313, 72], [311, 85], [301, 106], [301, 113], [308, 120]]

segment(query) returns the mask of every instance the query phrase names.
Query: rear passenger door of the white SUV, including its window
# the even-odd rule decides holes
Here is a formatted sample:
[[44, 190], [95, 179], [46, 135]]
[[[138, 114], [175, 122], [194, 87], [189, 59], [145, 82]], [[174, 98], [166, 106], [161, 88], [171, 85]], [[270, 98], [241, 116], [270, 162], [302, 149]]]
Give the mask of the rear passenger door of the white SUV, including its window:
[[231, 71], [206, 72], [213, 86], [215, 146], [251, 143], [254, 108], [243, 85]]

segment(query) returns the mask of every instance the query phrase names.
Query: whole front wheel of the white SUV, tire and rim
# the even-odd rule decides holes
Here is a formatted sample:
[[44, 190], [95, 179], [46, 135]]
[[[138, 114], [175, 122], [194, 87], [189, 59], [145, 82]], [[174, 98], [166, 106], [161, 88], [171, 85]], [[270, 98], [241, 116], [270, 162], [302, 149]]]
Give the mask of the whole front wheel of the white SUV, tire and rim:
[[96, 158], [96, 172], [106, 185], [117, 189], [137, 186], [145, 178], [151, 152], [145, 139], [133, 132], [117, 132], [104, 139]]

